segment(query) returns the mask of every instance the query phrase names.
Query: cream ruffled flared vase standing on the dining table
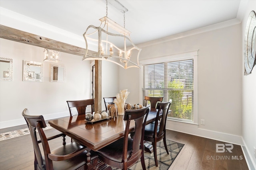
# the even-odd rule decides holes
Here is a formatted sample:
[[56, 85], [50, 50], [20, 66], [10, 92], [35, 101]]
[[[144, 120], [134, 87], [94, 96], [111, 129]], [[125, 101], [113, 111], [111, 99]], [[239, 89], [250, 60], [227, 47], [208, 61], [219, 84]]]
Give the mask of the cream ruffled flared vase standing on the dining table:
[[114, 99], [114, 104], [117, 106], [117, 114], [124, 115], [124, 104], [127, 99], [127, 96], [130, 92], [127, 92], [127, 89], [120, 90], [120, 93], [116, 94], [116, 99]]

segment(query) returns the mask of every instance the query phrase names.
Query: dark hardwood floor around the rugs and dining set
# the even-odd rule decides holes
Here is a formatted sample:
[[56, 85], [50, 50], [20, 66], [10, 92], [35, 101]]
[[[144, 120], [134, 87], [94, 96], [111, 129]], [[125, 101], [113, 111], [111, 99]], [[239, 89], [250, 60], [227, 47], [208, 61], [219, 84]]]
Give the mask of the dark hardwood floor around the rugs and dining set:
[[[59, 132], [49, 129], [45, 133], [52, 136]], [[239, 145], [234, 145], [232, 153], [216, 153], [216, 143], [223, 142], [170, 130], [167, 130], [166, 138], [185, 144], [169, 170], [248, 170]], [[66, 137], [66, 141], [70, 142], [71, 139]], [[62, 139], [54, 139], [49, 144], [50, 149], [54, 149], [62, 145]], [[0, 141], [0, 170], [32, 170], [33, 164], [34, 150], [30, 135]]]

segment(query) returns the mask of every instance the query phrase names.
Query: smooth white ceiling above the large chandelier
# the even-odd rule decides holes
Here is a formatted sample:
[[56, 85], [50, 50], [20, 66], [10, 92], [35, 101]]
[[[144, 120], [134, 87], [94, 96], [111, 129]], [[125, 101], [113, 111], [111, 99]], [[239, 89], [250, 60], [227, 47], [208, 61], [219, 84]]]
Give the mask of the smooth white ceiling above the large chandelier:
[[[216, 23], [239, 19], [240, 0], [119, 0], [125, 28], [137, 45]], [[0, 0], [2, 8], [82, 36], [106, 16], [105, 0]], [[108, 2], [108, 18], [123, 26], [123, 14]]]

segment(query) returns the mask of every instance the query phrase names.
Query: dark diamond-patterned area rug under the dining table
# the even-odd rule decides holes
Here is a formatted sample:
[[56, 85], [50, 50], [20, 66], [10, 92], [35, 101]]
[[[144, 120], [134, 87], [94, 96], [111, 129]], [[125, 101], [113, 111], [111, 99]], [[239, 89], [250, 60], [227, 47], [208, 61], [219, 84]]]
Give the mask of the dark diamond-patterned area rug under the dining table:
[[[177, 143], [174, 141], [166, 140], [167, 148], [169, 151], [169, 154], [166, 153], [166, 150], [164, 148], [164, 142], [160, 141], [157, 143], [157, 159], [158, 159], [158, 167], [156, 167], [155, 160], [154, 160], [154, 153], [144, 153], [145, 158], [145, 164], [147, 170], [168, 170], [170, 168], [172, 162], [176, 158], [176, 156], [179, 154], [180, 150], [184, 146], [184, 144]], [[119, 170], [117, 168], [113, 168], [112, 170]], [[128, 170], [142, 170], [142, 166], [140, 161], [138, 163], [134, 164], [132, 167], [130, 167]]]

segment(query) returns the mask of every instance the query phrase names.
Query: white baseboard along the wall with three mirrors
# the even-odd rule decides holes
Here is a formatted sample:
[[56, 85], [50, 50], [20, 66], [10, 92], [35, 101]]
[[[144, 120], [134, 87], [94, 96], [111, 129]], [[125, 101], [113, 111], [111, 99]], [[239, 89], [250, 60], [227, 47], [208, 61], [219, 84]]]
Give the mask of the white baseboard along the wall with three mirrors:
[[[53, 114], [43, 115], [43, 116], [44, 116], [44, 120], [50, 120], [50, 119], [57, 119], [57, 118], [65, 117], [65, 116], [69, 116], [69, 115], [70, 115], [69, 111], [65, 111], [65, 112], [53, 113]], [[10, 121], [1, 121], [0, 129], [6, 128], [6, 127], [24, 125], [24, 124], [26, 124], [26, 121], [24, 118], [10, 120]]]

